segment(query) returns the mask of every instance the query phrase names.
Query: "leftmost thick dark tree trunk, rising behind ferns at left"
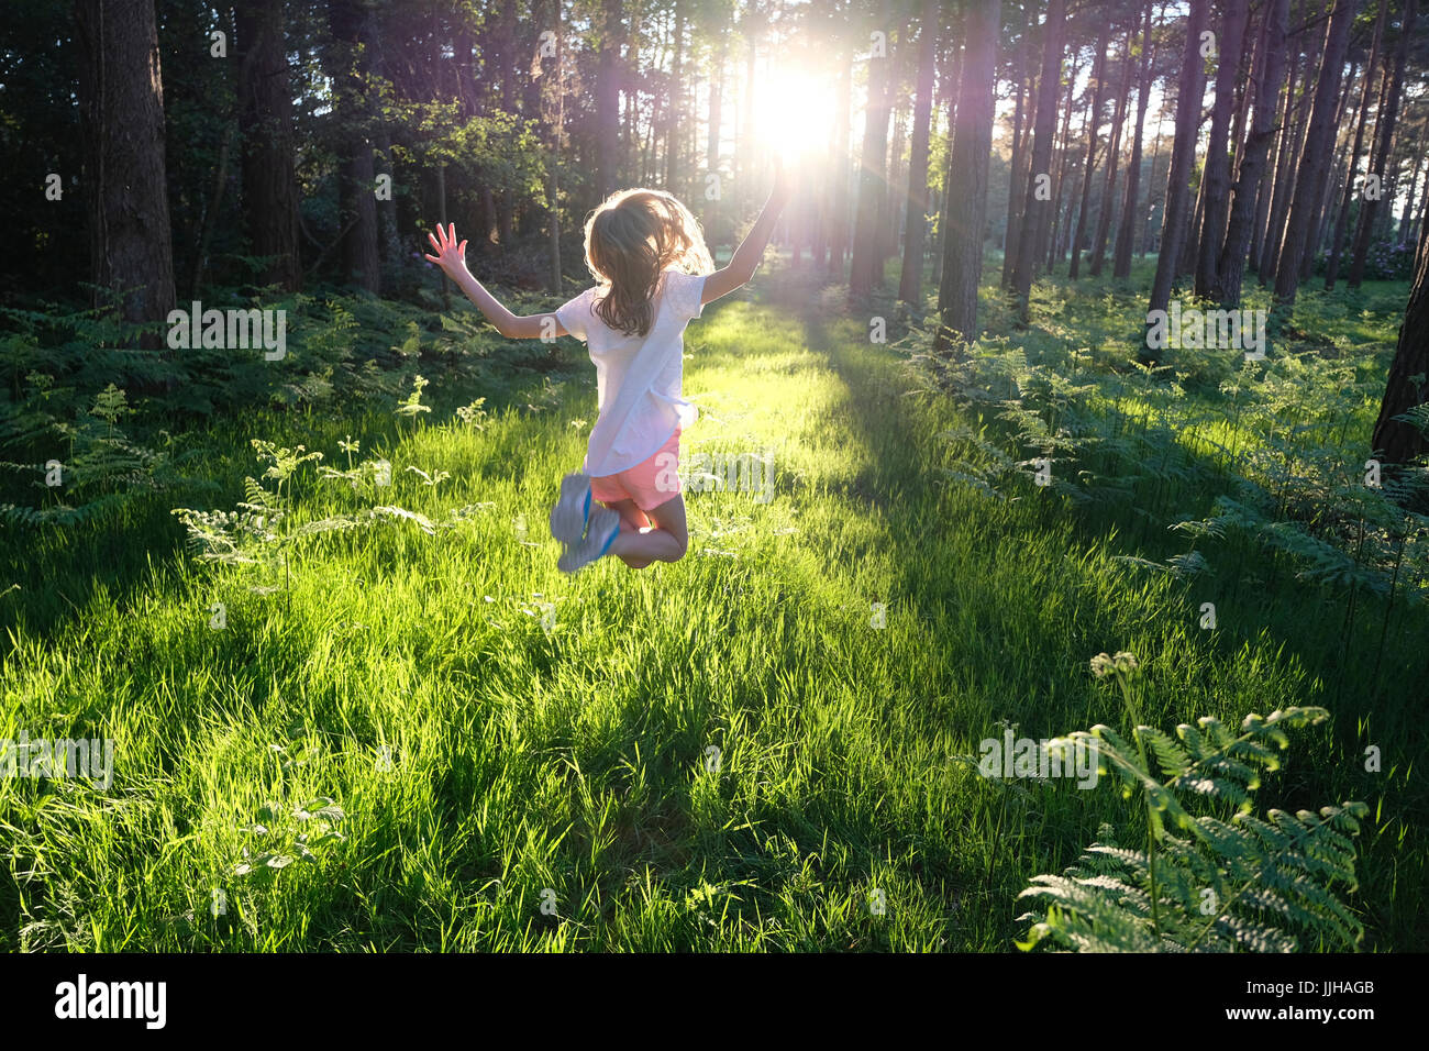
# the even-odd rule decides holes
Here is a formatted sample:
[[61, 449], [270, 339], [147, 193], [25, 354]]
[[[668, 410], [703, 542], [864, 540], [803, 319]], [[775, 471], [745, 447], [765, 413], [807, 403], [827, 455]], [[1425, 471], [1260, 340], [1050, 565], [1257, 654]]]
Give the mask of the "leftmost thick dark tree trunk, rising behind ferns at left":
[[[124, 320], [164, 322], [174, 267], [154, 4], [77, 0], [74, 16], [90, 279], [117, 297]], [[161, 339], [143, 343], [157, 349]]]

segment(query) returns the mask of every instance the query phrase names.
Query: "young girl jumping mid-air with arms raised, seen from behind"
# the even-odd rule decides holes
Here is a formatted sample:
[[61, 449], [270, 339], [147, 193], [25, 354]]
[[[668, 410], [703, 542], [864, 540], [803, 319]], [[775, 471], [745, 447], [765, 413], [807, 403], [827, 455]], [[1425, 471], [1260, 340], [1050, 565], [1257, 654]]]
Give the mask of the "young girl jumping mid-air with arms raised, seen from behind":
[[[586, 220], [586, 266], [599, 282], [554, 313], [517, 317], [466, 269], [456, 229], [427, 235], [427, 256], [507, 339], [574, 336], [596, 363], [600, 416], [582, 470], [566, 475], [550, 512], [564, 545], [557, 565], [573, 573], [603, 555], [632, 569], [684, 556], [689, 532], [680, 496], [680, 432], [696, 418], [682, 398], [684, 326], [704, 303], [755, 275], [789, 199], [780, 172], [759, 220], [729, 266], [716, 270], [699, 223], [660, 190], [614, 193]], [[592, 498], [599, 502], [592, 510]]]

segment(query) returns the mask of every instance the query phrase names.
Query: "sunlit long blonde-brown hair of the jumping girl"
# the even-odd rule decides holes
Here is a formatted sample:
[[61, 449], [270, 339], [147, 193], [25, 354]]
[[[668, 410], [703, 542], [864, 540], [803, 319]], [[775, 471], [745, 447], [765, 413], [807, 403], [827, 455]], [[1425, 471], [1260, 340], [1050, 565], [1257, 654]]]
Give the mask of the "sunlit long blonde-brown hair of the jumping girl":
[[664, 270], [714, 272], [690, 210], [663, 190], [643, 189], [612, 193], [586, 219], [586, 266], [604, 286], [596, 315], [627, 336], [650, 332]]

